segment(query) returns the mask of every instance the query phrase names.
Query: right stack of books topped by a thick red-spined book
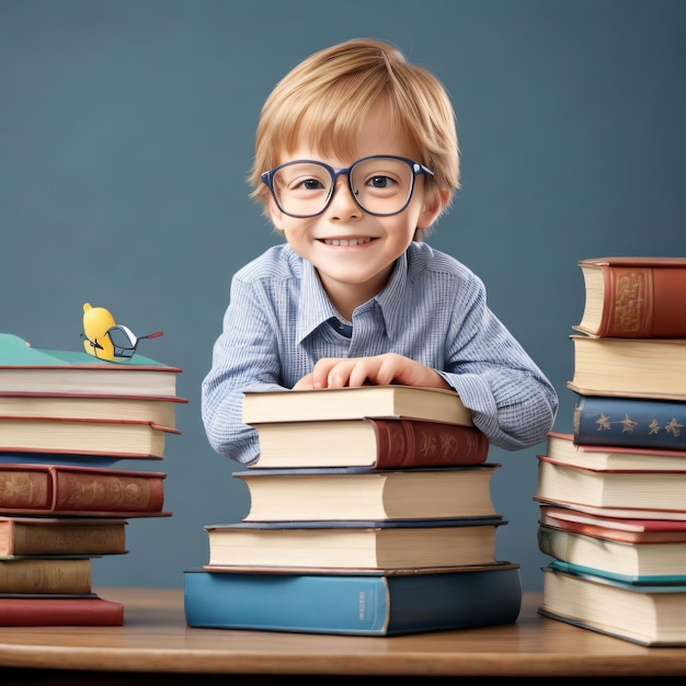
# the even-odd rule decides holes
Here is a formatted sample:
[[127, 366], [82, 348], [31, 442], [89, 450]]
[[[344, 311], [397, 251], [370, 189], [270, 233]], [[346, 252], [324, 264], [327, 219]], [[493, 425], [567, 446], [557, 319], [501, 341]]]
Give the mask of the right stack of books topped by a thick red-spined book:
[[686, 258], [579, 264], [573, 432], [538, 456], [540, 613], [686, 645]]

